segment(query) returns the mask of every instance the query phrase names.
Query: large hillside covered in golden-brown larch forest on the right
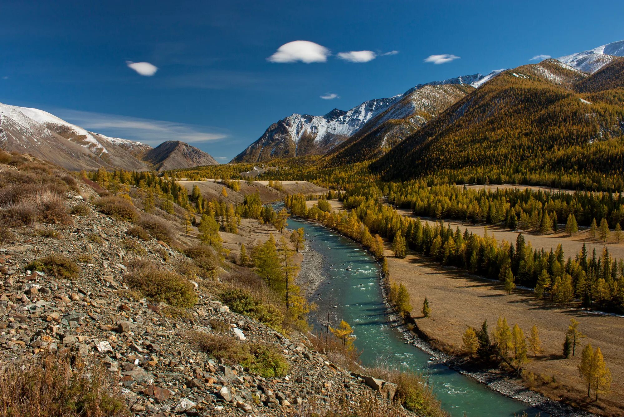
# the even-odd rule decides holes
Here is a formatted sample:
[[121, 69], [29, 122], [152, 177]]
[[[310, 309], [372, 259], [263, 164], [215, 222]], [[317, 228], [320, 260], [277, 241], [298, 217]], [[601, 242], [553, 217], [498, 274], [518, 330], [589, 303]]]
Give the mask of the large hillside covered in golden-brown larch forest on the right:
[[386, 179], [624, 189], [622, 59], [508, 70], [371, 164]]

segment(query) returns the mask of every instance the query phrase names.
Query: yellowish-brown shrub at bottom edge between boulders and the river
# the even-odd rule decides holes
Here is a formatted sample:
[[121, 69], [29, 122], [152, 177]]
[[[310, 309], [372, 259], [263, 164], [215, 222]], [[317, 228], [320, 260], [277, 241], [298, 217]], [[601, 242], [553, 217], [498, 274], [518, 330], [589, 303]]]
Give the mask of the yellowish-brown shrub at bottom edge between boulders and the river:
[[419, 416], [446, 416], [431, 388], [412, 370], [399, 371], [388, 365], [366, 370], [373, 378], [397, 385], [395, 401]]

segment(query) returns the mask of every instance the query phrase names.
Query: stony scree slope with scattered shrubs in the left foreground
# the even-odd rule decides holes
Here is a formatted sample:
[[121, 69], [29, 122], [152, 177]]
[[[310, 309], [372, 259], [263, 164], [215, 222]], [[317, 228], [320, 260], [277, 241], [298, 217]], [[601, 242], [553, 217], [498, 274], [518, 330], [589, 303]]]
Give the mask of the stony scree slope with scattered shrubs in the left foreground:
[[[12, 179], [11, 185], [0, 183], [4, 199], [12, 187], [21, 187], [19, 180], [32, 175], [41, 175], [41, 189], [29, 192], [52, 183], [55, 193], [62, 184], [67, 187], [55, 197], [57, 205], [47, 208], [56, 215], [49, 224], [22, 225], [4, 205], [0, 208], [0, 218], [11, 225], [0, 225], [3, 375], [19, 373], [22, 365], [46, 355], [71, 358], [70, 368], [99, 366], [86, 377], [95, 373], [110, 381], [115, 388], [106, 394], [120, 398], [131, 415], [411, 414], [388, 401], [396, 385], [334, 365], [303, 333], [280, 333], [230, 311], [218, 293], [227, 282], [238, 281], [241, 267], [211, 261], [202, 268], [216, 272], [218, 279], [204, 275], [206, 269], [192, 277], [188, 273], [196, 274], [198, 264], [182, 248], [139, 237], [130, 230], [135, 223], [99, 213], [101, 206], [92, 204], [99, 195], [91, 187], [41, 162], [14, 165], [0, 164], [0, 177]], [[35, 166], [38, 174], [29, 170]], [[130, 195], [137, 193], [130, 190]], [[150, 218], [154, 215], [172, 227], [170, 243], [193, 245], [193, 238], [176, 226], [175, 214], [157, 210]], [[196, 302], [181, 312], [145, 297], [131, 284], [133, 274], [145, 271], [150, 279], [178, 277], [178, 291], [188, 290], [190, 280]], [[232, 349], [259, 355], [270, 366], [280, 366], [280, 372], [251, 371], [242, 357], [241, 363], [215, 358]]]

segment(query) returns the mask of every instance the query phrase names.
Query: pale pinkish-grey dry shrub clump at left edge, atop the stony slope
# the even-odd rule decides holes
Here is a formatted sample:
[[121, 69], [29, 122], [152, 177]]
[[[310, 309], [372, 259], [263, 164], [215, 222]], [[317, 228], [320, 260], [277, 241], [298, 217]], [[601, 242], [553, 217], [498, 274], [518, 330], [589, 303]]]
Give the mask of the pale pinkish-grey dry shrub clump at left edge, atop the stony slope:
[[44, 223], [71, 224], [64, 198], [52, 190], [39, 190], [26, 194], [2, 207], [3, 217], [12, 225], [32, 225], [36, 220]]

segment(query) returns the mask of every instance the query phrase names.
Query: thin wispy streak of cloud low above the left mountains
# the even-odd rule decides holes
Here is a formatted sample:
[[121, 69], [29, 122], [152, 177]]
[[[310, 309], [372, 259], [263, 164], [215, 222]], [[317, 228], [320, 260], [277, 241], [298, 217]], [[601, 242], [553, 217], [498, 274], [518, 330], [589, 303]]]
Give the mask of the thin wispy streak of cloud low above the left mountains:
[[[156, 146], [165, 140], [182, 140], [187, 143], [206, 142], [227, 137], [223, 130], [165, 120], [54, 109], [53, 113], [68, 122], [110, 137], [138, 140]], [[211, 131], [212, 130], [212, 131]]]

